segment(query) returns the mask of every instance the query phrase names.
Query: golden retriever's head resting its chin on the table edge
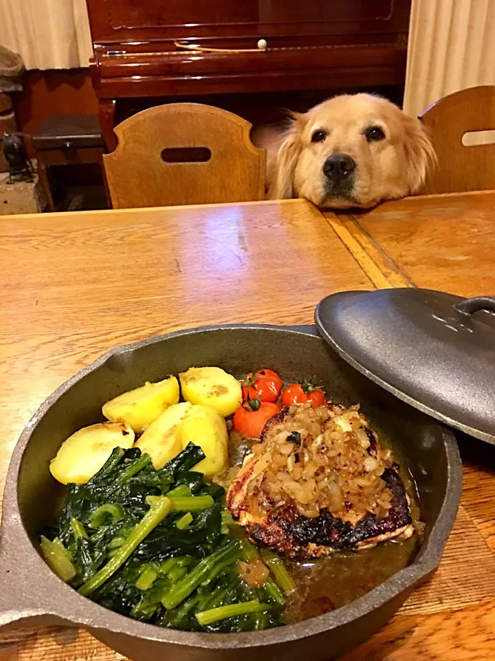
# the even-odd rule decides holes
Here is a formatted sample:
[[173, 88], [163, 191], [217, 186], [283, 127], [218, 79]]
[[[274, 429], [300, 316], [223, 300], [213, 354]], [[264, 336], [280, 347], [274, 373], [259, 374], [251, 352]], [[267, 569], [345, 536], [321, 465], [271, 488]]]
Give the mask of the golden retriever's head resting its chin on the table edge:
[[278, 150], [272, 198], [373, 207], [416, 193], [433, 147], [419, 120], [371, 94], [336, 96], [293, 114]]

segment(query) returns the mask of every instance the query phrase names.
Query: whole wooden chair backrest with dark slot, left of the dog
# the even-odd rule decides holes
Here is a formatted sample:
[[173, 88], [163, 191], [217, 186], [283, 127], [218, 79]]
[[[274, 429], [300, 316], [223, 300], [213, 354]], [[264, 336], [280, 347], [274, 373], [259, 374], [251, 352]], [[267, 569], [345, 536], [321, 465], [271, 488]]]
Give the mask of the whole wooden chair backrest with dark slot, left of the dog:
[[118, 145], [103, 157], [115, 209], [248, 202], [265, 196], [266, 153], [251, 125], [198, 103], [170, 103], [115, 127]]

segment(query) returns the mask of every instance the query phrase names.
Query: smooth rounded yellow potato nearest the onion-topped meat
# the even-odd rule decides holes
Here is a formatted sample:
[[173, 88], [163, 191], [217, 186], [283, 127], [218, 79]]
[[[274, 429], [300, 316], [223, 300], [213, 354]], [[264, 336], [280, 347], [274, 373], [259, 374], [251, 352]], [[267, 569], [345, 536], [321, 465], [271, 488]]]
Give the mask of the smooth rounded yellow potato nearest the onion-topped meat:
[[223, 417], [209, 406], [195, 404], [182, 421], [182, 450], [189, 443], [199, 445], [206, 454], [193, 470], [206, 477], [228, 468], [228, 431]]

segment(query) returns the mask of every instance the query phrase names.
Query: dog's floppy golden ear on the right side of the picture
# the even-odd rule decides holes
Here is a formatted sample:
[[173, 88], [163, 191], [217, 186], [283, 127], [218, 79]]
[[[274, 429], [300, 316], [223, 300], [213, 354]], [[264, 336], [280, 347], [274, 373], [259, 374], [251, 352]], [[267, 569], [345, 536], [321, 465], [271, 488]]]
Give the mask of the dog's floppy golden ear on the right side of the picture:
[[429, 169], [437, 165], [437, 154], [419, 119], [403, 113], [402, 125], [409, 192], [417, 193], [425, 184]]

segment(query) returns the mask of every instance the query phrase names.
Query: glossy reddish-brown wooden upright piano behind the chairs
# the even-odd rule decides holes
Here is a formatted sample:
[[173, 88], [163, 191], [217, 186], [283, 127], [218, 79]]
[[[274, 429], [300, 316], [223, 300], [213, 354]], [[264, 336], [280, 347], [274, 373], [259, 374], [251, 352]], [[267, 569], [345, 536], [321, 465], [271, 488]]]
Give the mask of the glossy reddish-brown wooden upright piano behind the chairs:
[[87, 0], [107, 148], [123, 98], [403, 85], [411, 1]]

